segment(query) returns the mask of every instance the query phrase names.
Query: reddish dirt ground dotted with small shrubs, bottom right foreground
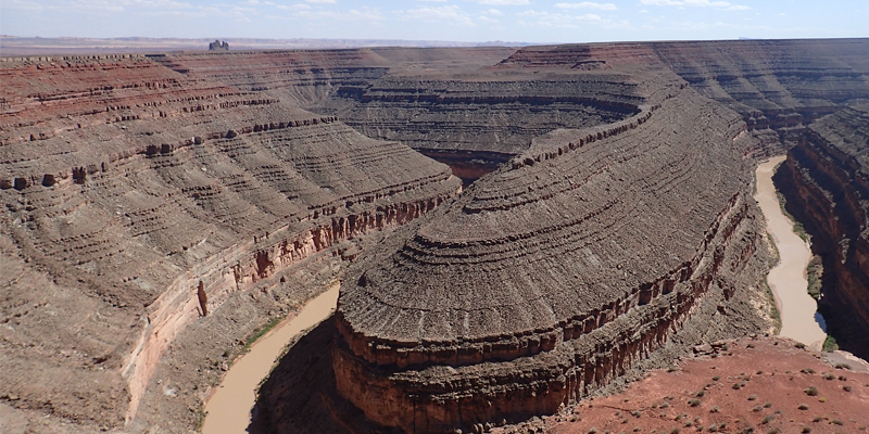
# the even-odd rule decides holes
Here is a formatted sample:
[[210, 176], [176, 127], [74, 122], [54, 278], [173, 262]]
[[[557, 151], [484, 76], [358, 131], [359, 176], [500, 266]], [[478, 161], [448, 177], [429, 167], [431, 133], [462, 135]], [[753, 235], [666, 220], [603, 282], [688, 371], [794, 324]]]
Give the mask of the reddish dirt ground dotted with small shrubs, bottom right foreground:
[[[853, 370], [865, 367], [831, 366], [821, 353], [801, 346], [781, 337], [731, 342], [673, 368], [652, 371], [621, 394], [583, 400], [522, 431], [867, 432], [869, 373]], [[493, 432], [499, 431], [504, 430]]]

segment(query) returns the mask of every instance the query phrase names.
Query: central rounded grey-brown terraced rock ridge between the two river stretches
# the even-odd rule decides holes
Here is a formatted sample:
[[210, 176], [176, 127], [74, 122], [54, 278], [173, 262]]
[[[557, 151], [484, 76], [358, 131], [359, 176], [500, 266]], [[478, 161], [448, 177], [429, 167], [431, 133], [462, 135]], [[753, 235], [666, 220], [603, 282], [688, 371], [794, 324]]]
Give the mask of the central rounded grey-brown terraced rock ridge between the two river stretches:
[[728, 322], [765, 271], [744, 132], [676, 88], [536, 139], [348, 272], [339, 392], [406, 432], [474, 430], [600, 388], [698, 311]]

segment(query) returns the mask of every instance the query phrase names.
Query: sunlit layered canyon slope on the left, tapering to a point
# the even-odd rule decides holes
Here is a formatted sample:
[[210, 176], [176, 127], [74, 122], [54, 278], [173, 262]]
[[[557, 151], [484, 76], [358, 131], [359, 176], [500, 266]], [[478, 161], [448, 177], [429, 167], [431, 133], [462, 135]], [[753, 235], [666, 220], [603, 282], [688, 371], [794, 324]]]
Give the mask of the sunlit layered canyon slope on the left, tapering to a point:
[[0, 81], [0, 395], [85, 425], [131, 419], [232, 293], [461, 190], [400, 143], [143, 56], [5, 61]]

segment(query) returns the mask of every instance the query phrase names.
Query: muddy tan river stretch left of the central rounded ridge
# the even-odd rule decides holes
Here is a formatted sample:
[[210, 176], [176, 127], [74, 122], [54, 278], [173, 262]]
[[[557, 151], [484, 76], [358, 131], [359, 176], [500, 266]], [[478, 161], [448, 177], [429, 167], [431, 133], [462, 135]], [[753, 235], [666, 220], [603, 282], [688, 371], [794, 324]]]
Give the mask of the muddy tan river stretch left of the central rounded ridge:
[[248, 432], [257, 385], [268, 375], [280, 352], [293, 337], [331, 315], [338, 304], [339, 286], [336, 283], [308, 302], [299, 315], [275, 327], [232, 363], [221, 385], [205, 403], [203, 434]]

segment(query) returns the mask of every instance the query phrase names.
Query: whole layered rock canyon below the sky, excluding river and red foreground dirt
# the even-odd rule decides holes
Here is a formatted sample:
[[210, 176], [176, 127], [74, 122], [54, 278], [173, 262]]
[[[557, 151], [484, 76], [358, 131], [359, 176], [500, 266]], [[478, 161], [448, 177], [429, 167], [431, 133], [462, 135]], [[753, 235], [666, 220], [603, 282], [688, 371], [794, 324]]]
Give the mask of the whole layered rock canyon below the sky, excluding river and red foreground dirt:
[[20, 56], [0, 80], [0, 410], [30, 431], [196, 430], [248, 339], [337, 280], [266, 429], [552, 414], [772, 329], [752, 179], [785, 152], [821, 309], [866, 357], [866, 39]]

